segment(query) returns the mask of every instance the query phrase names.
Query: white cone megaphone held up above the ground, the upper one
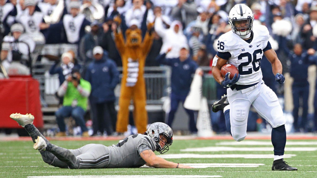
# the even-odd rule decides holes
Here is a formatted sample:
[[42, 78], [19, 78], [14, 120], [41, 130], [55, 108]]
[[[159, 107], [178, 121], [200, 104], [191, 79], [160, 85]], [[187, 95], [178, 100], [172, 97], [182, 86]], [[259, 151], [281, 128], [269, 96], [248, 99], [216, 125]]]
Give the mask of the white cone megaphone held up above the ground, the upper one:
[[202, 76], [198, 74], [199, 71], [201, 71], [201, 69], [197, 68], [194, 79], [191, 82], [191, 90], [184, 102], [184, 108], [195, 111], [198, 111], [200, 109], [200, 102], [202, 97], [203, 79]]

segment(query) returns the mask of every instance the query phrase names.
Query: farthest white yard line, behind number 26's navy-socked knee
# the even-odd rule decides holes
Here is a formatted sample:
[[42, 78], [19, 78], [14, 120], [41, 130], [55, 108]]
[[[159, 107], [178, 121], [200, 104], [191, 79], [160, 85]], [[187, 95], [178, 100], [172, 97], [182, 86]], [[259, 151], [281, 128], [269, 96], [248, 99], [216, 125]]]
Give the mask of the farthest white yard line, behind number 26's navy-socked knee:
[[[243, 141], [243, 142], [220, 142], [216, 143], [216, 145], [272, 145], [272, 142], [267, 141]], [[294, 142], [294, 141], [286, 141], [286, 145], [317, 145], [317, 142]]]

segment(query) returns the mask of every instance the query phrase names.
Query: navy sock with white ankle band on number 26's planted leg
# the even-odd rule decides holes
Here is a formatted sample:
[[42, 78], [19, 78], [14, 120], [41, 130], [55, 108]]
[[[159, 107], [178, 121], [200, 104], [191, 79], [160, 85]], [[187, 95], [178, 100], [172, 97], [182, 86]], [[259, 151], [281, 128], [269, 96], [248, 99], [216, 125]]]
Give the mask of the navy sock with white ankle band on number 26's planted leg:
[[[274, 147], [274, 160], [275, 156], [283, 156], [284, 148], [286, 145], [286, 130], [285, 125], [272, 128], [271, 141]], [[276, 157], [279, 158], [279, 157]], [[279, 158], [281, 159], [281, 158]]]

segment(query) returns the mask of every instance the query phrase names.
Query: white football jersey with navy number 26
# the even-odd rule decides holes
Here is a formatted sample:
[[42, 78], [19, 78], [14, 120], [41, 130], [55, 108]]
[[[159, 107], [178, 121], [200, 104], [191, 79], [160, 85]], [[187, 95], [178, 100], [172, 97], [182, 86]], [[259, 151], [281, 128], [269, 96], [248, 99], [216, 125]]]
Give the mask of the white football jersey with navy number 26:
[[231, 57], [227, 63], [239, 70], [240, 79], [237, 85], [251, 85], [262, 79], [260, 60], [270, 35], [263, 25], [254, 26], [252, 31], [253, 39], [250, 43], [231, 30], [221, 35], [217, 42], [218, 52], [229, 52]]

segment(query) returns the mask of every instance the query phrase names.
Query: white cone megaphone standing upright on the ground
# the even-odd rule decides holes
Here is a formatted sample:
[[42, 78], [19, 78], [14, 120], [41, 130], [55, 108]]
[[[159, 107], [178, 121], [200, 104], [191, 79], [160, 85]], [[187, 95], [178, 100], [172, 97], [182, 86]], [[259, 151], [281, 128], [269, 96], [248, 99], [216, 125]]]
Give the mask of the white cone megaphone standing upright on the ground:
[[205, 97], [201, 99], [201, 105], [198, 111], [196, 127], [198, 130], [197, 131], [198, 137], [210, 137], [214, 135], [211, 129], [211, 120], [210, 120], [210, 114], [208, 109], [208, 103]]

